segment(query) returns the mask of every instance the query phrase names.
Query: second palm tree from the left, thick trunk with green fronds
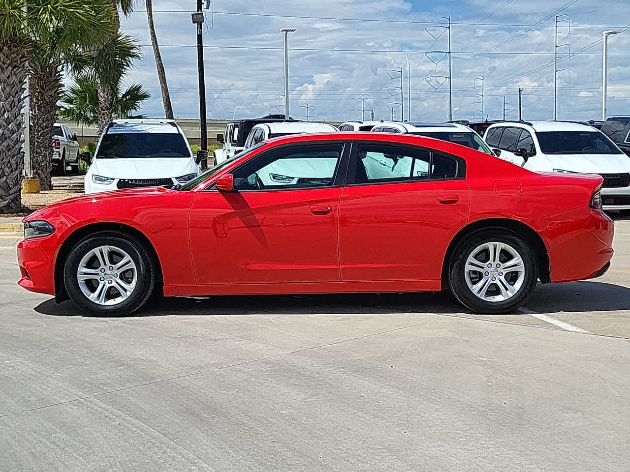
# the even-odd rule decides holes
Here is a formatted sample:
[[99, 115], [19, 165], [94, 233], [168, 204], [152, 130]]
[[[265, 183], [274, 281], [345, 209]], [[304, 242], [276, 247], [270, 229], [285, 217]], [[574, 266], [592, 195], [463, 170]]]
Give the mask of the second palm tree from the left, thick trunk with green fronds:
[[52, 127], [63, 89], [62, 72], [81, 62], [80, 47], [92, 47], [112, 37], [109, 0], [38, 0], [55, 21], [42, 22], [31, 33], [29, 76], [30, 151], [33, 177], [40, 188], [52, 188]]

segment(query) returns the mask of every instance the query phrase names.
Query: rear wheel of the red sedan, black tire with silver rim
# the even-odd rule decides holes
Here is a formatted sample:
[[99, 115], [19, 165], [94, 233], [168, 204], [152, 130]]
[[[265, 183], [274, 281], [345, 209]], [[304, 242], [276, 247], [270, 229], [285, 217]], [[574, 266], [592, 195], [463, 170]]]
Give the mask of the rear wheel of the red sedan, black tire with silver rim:
[[[496, 257], [490, 259], [490, 250], [496, 252], [499, 245], [503, 249], [499, 249], [498, 261]], [[515, 257], [520, 257], [522, 264]], [[508, 270], [501, 270], [503, 266]], [[512, 267], [515, 270], [510, 270]], [[532, 294], [537, 280], [534, 250], [524, 239], [505, 230], [473, 233], [455, 247], [450, 257], [450, 289], [473, 312], [490, 315], [512, 312]]]

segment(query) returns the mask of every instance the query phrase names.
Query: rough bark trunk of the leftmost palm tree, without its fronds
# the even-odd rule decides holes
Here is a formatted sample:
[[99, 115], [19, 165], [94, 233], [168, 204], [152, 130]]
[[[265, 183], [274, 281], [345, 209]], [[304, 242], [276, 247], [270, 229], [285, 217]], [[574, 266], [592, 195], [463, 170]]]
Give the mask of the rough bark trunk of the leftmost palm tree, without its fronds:
[[9, 38], [0, 42], [0, 213], [13, 213], [22, 208], [27, 62], [25, 41]]

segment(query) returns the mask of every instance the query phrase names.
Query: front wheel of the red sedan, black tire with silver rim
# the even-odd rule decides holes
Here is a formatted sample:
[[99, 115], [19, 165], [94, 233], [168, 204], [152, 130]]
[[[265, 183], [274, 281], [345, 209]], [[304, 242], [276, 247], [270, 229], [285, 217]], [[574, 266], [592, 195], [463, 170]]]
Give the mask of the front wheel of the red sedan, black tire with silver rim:
[[[108, 262], [105, 266], [103, 260]], [[70, 299], [84, 312], [123, 317], [138, 310], [151, 296], [156, 266], [147, 248], [135, 237], [103, 232], [83, 239], [72, 249], [64, 264], [64, 281]]]

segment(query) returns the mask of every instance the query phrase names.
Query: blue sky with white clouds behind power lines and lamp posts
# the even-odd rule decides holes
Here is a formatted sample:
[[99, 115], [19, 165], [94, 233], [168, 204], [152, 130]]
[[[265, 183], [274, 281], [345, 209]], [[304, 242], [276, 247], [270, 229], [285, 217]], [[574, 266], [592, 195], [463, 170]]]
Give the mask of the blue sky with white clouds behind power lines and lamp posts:
[[[176, 118], [199, 116], [196, 30], [190, 17], [195, 6], [193, 0], [153, 3]], [[609, 116], [627, 114], [630, 4], [625, 0], [214, 0], [203, 35], [207, 117], [284, 113], [279, 30], [297, 28], [289, 34], [293, 118], [304, 119], [308, 105], [314, 120], [360, 120], [357, 97], [364, 96], [366, 119], [374, 110], [375, 119], [389, 120], [393, 110], [400, 120], [400, 90], [391, 87], [401, 85], [399, 72], [392, 70], [403, 67], [404, 119], [447, 120], [449, 82], [442, 77], [449, 75], [448, 32], [442, 17], [450, 16], [453, 118], [481, 119], [482, 82], [475, 77], [483, 76], [484, 118], [503, 118], [504, 96], [506, 118], [518, 118], [520, 86], [523, 118], [549, 120], [556, 14], [570, 20], [558, 26], [563, 45], [558, 48], [558, 119], [600, 119], [602, 31], [624, 26], [627, 32], [609, 38], [607, 107]], [[122, 19], [121, 28], [137, 38], [143, 52], [127, 84], [139, 82], [151, 92], [143, 113], [164, 116], [144, 2]], [[433, 89], [429, 82], [444, 83]]]

